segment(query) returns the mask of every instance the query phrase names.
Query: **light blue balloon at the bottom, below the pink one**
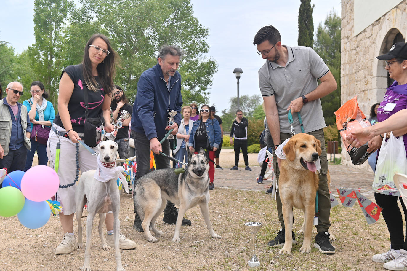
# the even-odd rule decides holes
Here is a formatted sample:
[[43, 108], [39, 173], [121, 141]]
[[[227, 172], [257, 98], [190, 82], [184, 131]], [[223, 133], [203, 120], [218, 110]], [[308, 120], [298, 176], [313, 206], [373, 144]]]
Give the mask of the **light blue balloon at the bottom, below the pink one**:
[[17, 216], [24, 227], [38, 229], [48, 222], [50, 214], [51, 210], [46, 201], [26, 199], [23, 209]]

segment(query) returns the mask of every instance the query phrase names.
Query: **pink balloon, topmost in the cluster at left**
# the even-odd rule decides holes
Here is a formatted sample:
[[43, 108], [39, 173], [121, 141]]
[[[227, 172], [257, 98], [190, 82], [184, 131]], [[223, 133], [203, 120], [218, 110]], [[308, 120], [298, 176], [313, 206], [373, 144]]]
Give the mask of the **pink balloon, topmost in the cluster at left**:
[[50, 199], [57, 192], [58, 187], [57, 173], [46, 165], [31, 167], [21, 180], [21, 192], [33, 201]]

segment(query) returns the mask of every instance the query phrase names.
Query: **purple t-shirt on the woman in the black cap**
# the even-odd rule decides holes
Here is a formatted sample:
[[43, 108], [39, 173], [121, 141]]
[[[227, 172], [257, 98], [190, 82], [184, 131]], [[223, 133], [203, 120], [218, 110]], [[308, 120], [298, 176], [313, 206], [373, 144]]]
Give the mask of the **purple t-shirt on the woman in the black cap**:
[[[388, 103], [396, 104], [392, 111], [384, 110], [386, 104]], [[377, 109], [377, 120], [379, 122], [384, 121], [394, 113], [405, 108], [407, 108], [407, 84], [398, 85], [397, 81], [394, 81], [394, 83], [387, 88], [383, 101], [380, 103], [379, 108]], [[403, 135], [403, 141], [407, 154], [407, 134]]]

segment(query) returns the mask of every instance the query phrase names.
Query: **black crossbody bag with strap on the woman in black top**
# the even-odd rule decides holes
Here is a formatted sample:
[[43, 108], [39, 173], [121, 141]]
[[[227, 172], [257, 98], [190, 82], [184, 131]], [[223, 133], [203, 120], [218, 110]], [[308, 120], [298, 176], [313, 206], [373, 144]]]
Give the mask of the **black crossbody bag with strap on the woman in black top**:
[[[83, 131], [83, 141], [89, 147], [96, 147], [102, 141], [102, 130], [105, 127], [105, 119], [103, 118], [103, 111], [97, 118], [88, 118], [88, 90], [83, 89], [85, 98], [85, 124]], [[102, 116], [101, 116], [102, 115]]]

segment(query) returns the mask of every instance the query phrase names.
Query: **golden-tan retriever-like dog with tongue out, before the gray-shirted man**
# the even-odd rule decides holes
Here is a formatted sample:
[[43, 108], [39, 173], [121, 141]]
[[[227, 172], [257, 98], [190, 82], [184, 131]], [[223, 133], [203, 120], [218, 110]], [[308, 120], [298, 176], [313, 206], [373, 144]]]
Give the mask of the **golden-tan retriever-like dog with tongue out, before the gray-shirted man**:
[[[315, 194], [318, 190], [319, 175], [315, 161], [321, 155], [321, 143], [310, 134], [296, 134], [283, 147], [287, 157], [281, 160], [278, 186], [282, 202], [285, 225], [284, 247], [280, 254], [291, 254], [293, 248], [293, 207], [304, 212], [304, 224], [298, 234], [304, 234], [300, 251], [311, 251], [311, 235], [315, 214]], [[329, 178], [328, 178], [329, 179]]]

